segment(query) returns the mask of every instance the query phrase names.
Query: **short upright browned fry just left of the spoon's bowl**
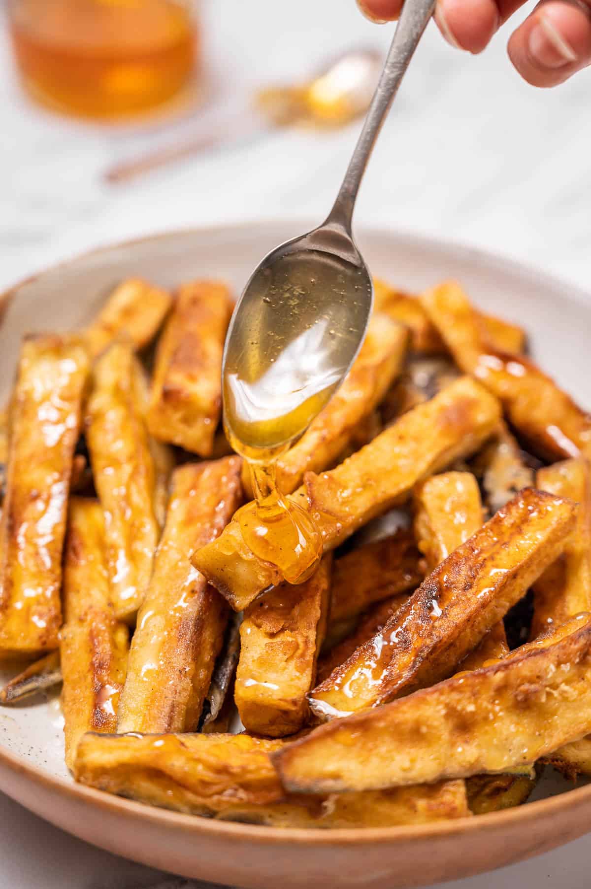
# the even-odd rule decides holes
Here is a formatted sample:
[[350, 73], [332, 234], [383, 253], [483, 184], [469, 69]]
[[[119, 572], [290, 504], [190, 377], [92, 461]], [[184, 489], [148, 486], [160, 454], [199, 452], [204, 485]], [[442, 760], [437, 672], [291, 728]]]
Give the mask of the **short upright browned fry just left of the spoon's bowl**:
[[220, 421], [221, 353], [233, 305], [226, 284], [185, 284], [156, 351], [148, 428], [201, 457], [212, 456]]

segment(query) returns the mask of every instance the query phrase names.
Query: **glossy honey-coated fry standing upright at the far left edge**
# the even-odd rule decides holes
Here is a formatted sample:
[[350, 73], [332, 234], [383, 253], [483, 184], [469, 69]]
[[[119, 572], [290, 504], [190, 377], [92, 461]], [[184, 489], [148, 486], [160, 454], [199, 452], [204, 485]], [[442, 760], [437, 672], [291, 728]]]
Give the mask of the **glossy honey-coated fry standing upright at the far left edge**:
[[61, 550], [89, 361], [78, 340], [24, 340], [0, 525], [0, 653], [58, 647]]

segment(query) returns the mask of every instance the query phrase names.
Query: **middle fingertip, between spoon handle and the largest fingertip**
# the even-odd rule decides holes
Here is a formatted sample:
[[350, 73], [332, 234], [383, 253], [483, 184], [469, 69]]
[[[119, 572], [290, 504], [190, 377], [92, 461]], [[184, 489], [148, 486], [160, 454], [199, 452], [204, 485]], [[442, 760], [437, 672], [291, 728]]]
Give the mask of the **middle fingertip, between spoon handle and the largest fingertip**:
[[435, 21], [452, 46], [482, 52], [500, 25], [495, 0], [438, 0]]

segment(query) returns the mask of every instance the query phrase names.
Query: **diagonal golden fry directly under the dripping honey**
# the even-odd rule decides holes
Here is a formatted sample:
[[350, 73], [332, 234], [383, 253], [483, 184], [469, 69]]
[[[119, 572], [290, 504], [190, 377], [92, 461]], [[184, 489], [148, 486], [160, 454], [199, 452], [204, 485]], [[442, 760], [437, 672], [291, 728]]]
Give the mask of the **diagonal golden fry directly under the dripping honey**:
[[[324, 549], [334, 549], [371, 518], [405, 501], [421, 478], [474, 453], [498, 422], [497, 400], [463, 377], [404, 414], [336, 469], [321, 476], [309, 473], [306, 490], [290, 496], [315, 518]], [[236, 521], [218, 541], [196, 552], [193, 564], [235, 611], [283, 580], [276, 565], [246, 546]]]

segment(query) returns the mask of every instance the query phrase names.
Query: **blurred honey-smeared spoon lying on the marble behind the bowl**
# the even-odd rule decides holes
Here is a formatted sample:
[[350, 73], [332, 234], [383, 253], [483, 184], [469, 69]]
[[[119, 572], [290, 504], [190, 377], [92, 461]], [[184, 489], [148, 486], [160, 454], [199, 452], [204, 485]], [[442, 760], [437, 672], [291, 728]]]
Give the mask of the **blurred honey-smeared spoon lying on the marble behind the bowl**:
[[268, 87], [256, 92], [254, 109], [238, 118], [232, 117], [209, 132], [198, 132], [116, 164], [108, 169], [104, 178], [111, 183], [128, 182], [201, 151], [280, 127], [295, 124], [345, 126], [369, 108], [381, 65], [381, 54], [376, 50], [347, 50], [304, 83]]

